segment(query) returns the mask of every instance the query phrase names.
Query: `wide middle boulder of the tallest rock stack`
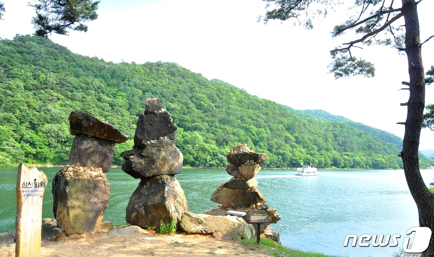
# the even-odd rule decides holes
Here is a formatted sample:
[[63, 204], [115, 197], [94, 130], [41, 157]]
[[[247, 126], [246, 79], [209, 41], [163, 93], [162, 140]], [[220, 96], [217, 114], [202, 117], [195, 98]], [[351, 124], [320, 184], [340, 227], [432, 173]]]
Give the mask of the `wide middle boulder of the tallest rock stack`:
[[180, 174], [183, 155], [174, 140], [151, 140], [144, 147], [121, 153], [126, 160], [122, 170], [134, 178]]

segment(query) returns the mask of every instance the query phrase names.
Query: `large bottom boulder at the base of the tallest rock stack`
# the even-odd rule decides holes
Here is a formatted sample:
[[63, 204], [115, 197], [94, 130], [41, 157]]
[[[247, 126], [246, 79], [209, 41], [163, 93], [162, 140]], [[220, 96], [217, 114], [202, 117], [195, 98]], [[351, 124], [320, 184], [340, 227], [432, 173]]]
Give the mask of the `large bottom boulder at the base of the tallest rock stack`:
[[139, 227], [160, 228], [176, 220], [177, 227], [182, 213], [188, 210], [184, 190], [172, 175], [142, 178], [132, 194], [127, 210], [126, 220]]

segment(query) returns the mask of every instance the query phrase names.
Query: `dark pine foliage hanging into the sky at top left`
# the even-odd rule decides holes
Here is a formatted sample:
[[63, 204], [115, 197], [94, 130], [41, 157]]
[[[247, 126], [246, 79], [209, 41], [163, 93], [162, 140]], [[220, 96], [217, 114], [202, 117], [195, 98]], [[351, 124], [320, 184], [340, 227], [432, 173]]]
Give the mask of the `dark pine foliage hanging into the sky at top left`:
[[[52, 32], [67, 35], [68, 30], [86, 32], [88, 27], [83, 22], [98, 18], [98, 4], [99, 0], [37, 0], [35, 4], [29, 3], [36, 11], [32, 20], [35, 35], [48, 37]], [[0, 2], [0, 20], [4, 11], [4, 4]]]

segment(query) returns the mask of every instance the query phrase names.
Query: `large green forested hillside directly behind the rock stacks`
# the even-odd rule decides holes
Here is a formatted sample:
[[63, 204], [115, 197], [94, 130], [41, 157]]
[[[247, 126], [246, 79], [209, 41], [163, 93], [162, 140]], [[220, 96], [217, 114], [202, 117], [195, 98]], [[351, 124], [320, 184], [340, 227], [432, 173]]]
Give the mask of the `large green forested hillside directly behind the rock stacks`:
[[[133, 137], [149, 97], [160, 98], [178, 125], [184, 165], [226, 166], [227, 151], [247, 143], [269, 155], [263, 167], [402, 167], [395, 144], [342, 122], [299, 117], [176, 63], [105, 62], [30, 36], [0, 41], [0, 166], [66, 164], [76, 109]], [[122, 164], [119, 153], [132, 145], [116, 145], [113, 163]], [[431, 164], [421, 159], [421, 167]]]

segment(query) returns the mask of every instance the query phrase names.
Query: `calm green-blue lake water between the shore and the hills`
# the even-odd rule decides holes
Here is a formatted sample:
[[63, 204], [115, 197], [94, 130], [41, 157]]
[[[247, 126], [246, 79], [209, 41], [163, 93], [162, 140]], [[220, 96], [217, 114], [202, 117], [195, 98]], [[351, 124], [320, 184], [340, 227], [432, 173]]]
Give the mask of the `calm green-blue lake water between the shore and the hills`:
[[[43, 170], [46, 188], [43, 217], [53, 217], [51, 181], [59, 168]], [[0, 168], [0, 232], [15, 229], [17, 168]], [[386, 257], [400, 250], [405, 233], [418, 227], [418, 211], [403, 170], [320, 170], [318, 177], [294, 176], [294, 170], [261, 170], [258, 189], [282, 219], [273, 224], [283, 245], [349, 257]], [[421, 170], [429, 187], [433, 170]], [[202, 213], [217, 204], [210, 201], [217, 186], [228, 181], [223, 169], [183, 169], [175, 176], [190, 211]], [[120, 168], [107, 173], [111, 184], [104, 220], [125, 224], [125, 208], [139, 180]], [[343, 247], [348, 234], [401, 234], [398, 247]], [[350, 241], [351, 242], [351, 241]]]

